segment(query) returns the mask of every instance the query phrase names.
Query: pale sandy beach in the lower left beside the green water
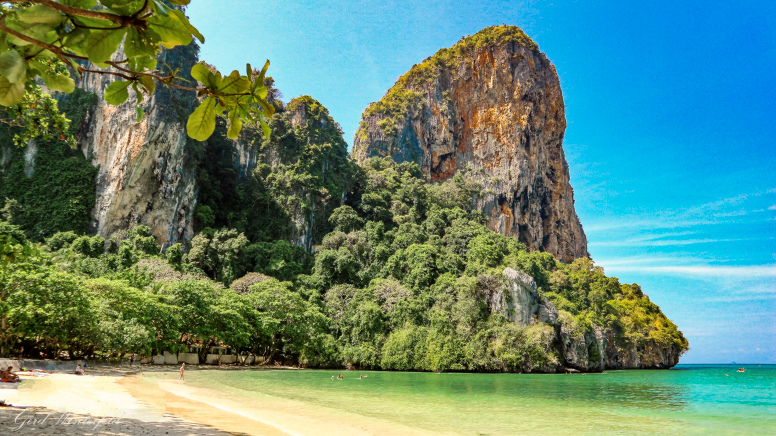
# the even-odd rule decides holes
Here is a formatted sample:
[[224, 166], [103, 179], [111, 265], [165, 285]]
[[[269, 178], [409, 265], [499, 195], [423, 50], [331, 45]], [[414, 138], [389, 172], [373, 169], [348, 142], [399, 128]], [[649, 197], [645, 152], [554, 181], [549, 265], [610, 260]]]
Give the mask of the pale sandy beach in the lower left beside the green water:
[[[14, 406], [43, 408], [0, 408], [0, 434], [427, 434], [396, 422], [283, 398], [246, 404], [179, 382], [170, 376], [174, 371], [147, 366], [98, 368], [86, 376], [23, 376], [18, 386], [4, 384], [0, 399]], [[143, 373], [164, 377], [143, 377]]]

